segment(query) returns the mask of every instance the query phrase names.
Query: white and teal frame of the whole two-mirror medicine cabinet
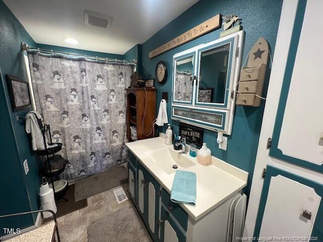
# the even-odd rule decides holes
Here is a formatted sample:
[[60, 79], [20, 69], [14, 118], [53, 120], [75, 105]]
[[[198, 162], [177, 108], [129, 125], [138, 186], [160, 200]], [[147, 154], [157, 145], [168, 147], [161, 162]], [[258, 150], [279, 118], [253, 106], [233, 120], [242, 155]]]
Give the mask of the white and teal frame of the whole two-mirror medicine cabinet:
[[[233, 125], [233, 117], [234, 117], [234, 109], [235, 109], [235, 101], [236, 101], [236, 89], [237, 89], [237, 83], [239, 79], [240, 74], [240, 65], [242, 61], [242, 48], [243, 48], [243, 40], [244, 40], [244, 31], [241, 30], [239, 32], [233, 33], [231, 35], [225, 36], [223, 38], [210, 41], [208, 43], [200, 44], [197, 46], [194, 46], [192, 48], [189, 48], [187, 50], [184, 50], [182, 52], [176, 53], [173, 56], [173, 84], [172, 84], [172, 92], [174, 91], [174, 81], [175, 81], [175, 72], [176, 72], [176, 66], [175, 66], [175, 60], [181, 59], [183, 57], [187, 57], [189, 55], [194, 54], [195, 61], [194, 61], [194, 73], [193, 77], [197, 76], [197, 57], [198, 53], [201, 52], [199, 50], [205, 50], [207, 48], [211, 48], [211, 46], [220, 46], [224, 43], [228, 43], [230, 41], [230, 54], [232, 53], [232, 66], [231, 66], [231, 74], [230, 79], [228, 79], [229, 75], [227, 75], [227, 80], [230, 80], [229, 83], [227, 83], [227, 87], [229, 87], [229, 90], [227, 92], [226, 98], [227, 103], [226, 105], [217, 106], [217, 105], [199, 105], [200, 103], [196, 104], [196, 92], [197, 92], [197, 80], [193, 80], [193, 102], [187, 102], [187, 101], [174, 101], [174, 95], [172, 93], [172, 119], [178, 120], [180, 122], [194, 125], [197, 127], [201, 127], [207, 130], [215, 131], [215, 132], [222, 132], [226, 135], [231, 135], [232, 133], [232, 125]], [[231, 48], [233, 51], [231, 51]], [[228, 64], [229, 65], [229, 64]], [[228, 70], [229, 72], [229, 70]], [[225, 99], [226, 99], [225, 98]], [[177, 111], [174, 112], [174, 109], [178, 108], [181, 110], [186, 110], [187, 113], [183, 112], [182, 114]], [[194, 115], [190, 114], [190, 112], [194, 113]], [[212, 114], [210, 118], [216, 118], [216, 114], [223, 115], [223, 122], [220, 124], [215, 124], [214, 122], [208, 122], [208, 120], [205, 120], [205, 117], [203, 117], [203, 113], [206, 114]], [[180, 114], [180, 115], [178, 115]], [[199, 119], [199, 117], [202, 114], [202, 119]], [[191, 117], [188, 117], [188, 115], [191, 115]], [[204, 119], [204, 120], [203, 120]], [[207, 118], [206, 118], [207, 119]]]

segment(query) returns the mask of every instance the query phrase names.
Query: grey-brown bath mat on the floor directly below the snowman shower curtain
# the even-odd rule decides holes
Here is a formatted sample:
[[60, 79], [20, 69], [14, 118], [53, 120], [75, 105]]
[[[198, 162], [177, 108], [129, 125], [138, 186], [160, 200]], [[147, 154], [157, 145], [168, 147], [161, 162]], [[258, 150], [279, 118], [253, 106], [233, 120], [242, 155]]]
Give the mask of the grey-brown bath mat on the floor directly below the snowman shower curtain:
[[127, 168], [124, 165], [76, 180], [75, 201], [89, 198], [125, 183], [127, 183]]

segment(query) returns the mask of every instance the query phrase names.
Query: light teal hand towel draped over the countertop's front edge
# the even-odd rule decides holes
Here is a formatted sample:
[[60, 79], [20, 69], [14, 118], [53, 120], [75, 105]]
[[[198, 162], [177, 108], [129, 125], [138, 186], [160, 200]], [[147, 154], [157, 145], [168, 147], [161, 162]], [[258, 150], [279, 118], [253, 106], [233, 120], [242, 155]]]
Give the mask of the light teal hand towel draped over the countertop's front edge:
[[196, 174], [190, 171], [177, 170], [171, 190], [171, 201], [195, 205]]

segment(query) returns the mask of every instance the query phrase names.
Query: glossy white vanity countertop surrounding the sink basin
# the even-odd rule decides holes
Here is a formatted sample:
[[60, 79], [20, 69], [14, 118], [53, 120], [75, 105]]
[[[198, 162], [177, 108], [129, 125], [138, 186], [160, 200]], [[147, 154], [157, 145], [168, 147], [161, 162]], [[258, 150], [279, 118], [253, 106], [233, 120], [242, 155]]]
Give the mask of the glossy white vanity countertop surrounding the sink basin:
[[[161, 134], [163, 135], [163, 134]], [[137, 156], [143, 166], [150, 171], [158, 183], [171, 192], [175, 172], [168, 174], [145, 155], [145, 152], [168, 147], [161, 137], [130, 142], [126, 144], [129, 150]], [[236, 194], [247, 185], [248, 172], [212, 156], [212, 164], [203, 166], [196, 158], [182, 154], [196, 165], [188, 167], [187, 171], [196, 173], [196, 205], [180, 204], [194, 220], [198, 220], [219, 206], [223, 201]]]

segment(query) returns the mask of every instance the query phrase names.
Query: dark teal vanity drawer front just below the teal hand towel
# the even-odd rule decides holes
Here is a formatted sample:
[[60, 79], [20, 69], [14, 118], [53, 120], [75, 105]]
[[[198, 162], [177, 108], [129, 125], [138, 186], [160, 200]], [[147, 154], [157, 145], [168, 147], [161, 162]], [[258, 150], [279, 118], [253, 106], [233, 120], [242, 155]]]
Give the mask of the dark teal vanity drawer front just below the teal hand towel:
[[161, 202], [165, 205], [168, 211], [176, 218], [178, 223], [187, 231], [187, 213], [177, 203], [171, 201], [170, 195], [163, 189], [161, 191]]

